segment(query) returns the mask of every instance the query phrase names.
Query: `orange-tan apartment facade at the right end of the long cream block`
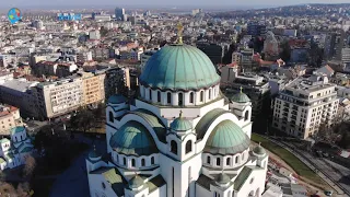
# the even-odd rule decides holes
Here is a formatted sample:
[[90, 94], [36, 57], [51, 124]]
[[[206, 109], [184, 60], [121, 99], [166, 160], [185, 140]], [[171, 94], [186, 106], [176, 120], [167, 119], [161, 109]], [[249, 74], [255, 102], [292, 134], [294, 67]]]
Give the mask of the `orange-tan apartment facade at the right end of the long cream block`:
[[104, 102], [105, 100], [105, 73], [93, 74], [84, 72], [82, 76], [83, 105]]

